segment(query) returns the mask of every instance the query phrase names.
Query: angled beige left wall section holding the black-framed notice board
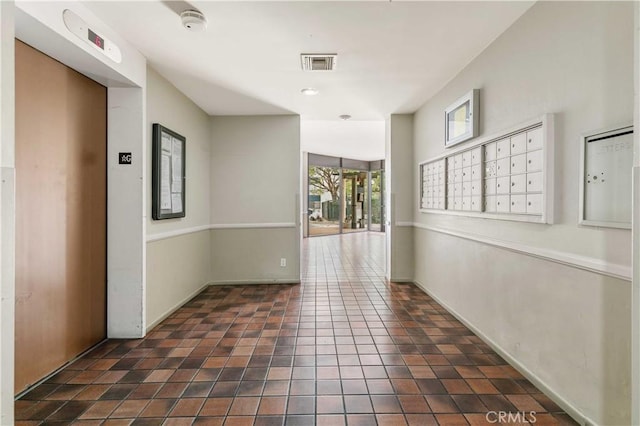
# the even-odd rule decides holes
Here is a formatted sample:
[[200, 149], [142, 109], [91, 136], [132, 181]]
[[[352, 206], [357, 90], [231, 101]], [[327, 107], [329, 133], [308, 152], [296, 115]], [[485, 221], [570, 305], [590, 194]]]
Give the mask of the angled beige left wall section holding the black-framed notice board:
[[[186, 138], [186, 217], [151, 218], [147, 204], [147, 327], [181, 306], [211, 280], [209, 196], [210, 117], [152, 68], [147, 75], [147, 159], [152, 124]], [[151, 164], [147, 164], [151, 176]], [[151, 179], [149, 179], [149, 182]]]

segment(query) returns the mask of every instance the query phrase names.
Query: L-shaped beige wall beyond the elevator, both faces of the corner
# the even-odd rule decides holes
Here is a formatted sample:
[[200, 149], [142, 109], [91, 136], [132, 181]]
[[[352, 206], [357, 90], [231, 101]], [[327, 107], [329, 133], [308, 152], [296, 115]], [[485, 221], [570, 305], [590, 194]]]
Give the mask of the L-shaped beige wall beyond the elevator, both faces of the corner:
[[299, 117], [210, 117], [151, 68], [147, 106], [187, 139], [186, 217], [147, 221], [147, 324], [207, 284], [298, 282]]

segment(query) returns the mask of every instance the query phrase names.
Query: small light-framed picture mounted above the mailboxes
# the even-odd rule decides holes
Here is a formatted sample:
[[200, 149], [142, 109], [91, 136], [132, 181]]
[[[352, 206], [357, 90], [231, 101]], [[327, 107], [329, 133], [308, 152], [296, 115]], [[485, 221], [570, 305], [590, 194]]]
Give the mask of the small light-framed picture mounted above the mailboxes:
[[445, 148], [478, 136], [479, 98], [480, 91], [473, 89], [445, 110]]

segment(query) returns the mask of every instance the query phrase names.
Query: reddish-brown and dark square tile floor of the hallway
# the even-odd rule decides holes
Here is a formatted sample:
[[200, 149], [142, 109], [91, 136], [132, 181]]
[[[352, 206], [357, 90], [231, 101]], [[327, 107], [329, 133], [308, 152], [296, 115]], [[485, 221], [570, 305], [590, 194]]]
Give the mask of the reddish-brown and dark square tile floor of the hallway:
[[489, 411], [573, 424], [383, 265], [382, 234], [308, 239], [301, 285], [210, 287], [16, 401], [17, 424], [476, 425]]

